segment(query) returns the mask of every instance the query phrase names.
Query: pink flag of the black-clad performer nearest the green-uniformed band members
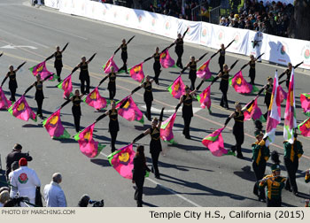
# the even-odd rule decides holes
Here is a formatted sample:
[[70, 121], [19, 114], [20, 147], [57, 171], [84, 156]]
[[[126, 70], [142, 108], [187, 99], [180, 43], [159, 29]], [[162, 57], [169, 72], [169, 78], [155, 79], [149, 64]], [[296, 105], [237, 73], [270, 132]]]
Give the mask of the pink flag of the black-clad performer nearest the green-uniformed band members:
[[215, 157], [221, 157], [229, 153], [228, 150], [224, 149], [224, 141], [221, 136], [221, 132], [224, 127], [219, 128], [212, 134], [205, 136], [202, 143], [207, 147]]

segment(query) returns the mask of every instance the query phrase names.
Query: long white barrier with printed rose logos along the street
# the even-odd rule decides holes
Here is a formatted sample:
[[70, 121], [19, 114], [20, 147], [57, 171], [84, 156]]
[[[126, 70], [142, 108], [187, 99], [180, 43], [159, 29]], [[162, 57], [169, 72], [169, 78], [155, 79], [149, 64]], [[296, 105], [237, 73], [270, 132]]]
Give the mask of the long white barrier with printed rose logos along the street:
[[[189, 28], [184, 42], [219, 49], [221, 43], [227, 45], [235, 39], [227, 51], [255, 55], [255, 50], [252, 48], [255, 32], [251, 30], [176, 19], [158, 13], [89, 0], [45, 0], [45, 5], [56, 8], [59, 12], [97, 19], [173, 39], [178, 33], [183, 33]], [[310, 42], [308, 41], [263, 34], [260, 52], [265, 53], [262, 57], [264, 60], [281, 65], [287, 65], [288, 62], [296, 65], [304, 61], [304, 64], [299, 67], [310, 69]]]

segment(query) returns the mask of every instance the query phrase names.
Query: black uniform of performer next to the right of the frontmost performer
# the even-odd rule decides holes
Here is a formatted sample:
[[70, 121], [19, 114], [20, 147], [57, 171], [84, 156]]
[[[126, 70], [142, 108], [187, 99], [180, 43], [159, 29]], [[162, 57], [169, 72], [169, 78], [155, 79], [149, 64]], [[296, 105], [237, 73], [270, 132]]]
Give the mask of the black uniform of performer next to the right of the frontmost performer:
[[184, 119], [184, 128], [183, 128], [183, 135], [185, 137], [190, 137], [190, 120], [193, 117], [193, 106], [192, 96], [182, 96], [183, 97], [183, 107], [182, 107], [182, 118]]

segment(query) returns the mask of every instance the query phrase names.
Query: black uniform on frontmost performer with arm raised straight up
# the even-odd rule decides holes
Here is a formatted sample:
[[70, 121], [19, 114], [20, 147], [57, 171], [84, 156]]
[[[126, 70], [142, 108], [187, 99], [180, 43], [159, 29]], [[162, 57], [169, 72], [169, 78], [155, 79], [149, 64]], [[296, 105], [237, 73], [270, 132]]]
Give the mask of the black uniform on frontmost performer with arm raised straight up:
[[158, 127], [151, 127], [151, 142], [150, 142], [150, 153], [152, 162], [152, 171], [155, 177], [159, 177], [159, 154], [162, 151], [160, 143], [160, 130]]

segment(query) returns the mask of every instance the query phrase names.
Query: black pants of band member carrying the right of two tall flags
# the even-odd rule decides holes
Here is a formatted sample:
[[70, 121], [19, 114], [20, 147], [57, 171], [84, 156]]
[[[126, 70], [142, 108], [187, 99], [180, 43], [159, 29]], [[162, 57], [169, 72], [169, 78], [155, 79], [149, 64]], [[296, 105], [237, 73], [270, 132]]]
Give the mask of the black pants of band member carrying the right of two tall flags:
[[284, 165], [288, 173], [288, 180], [286, 181], [285, 188], [292, 189], [294, 193], [298, 192], [296, 183], [296, 173], [298, 171], [298, 158], [291, 162], [290, 158], [284, 158]]

